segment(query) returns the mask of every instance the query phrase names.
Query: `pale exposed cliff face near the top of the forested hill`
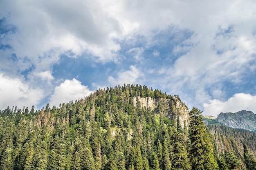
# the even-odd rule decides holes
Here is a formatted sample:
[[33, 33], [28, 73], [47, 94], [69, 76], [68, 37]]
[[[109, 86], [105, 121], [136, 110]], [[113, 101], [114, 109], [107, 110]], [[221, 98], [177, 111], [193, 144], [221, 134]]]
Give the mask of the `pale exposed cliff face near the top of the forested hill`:
[[[188, 108], [177, 98], [164, 99], [164, 98], [151, 98], [151, 97], [132, 97], [134, 106], [137, 106], [137, 102], [140, 103], [141, 108], [146, 107], [148, 110], [157, 110], [157, 112], [163, 112], [167, 117], [177, 116], [180, 118], [180, 124], [184, 128], [184, 122], [188, 128], [189, 125], [189, 110]], [[160, 106], [160, 107], [158, 107]]]

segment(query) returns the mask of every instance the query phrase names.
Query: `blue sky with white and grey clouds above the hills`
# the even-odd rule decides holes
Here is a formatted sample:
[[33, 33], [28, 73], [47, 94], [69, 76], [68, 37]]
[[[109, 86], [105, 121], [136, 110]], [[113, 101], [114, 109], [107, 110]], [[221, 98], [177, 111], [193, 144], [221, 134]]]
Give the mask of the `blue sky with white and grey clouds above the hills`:
[[0, 0], [0, 109], [141, 84], [256, 113], [256, 0]]

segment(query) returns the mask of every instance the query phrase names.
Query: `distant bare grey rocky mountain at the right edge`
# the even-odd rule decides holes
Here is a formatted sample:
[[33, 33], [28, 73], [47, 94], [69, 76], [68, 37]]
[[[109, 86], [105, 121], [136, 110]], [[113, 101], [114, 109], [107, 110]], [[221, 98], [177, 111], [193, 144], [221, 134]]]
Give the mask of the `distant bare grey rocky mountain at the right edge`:
[[220, 113], [216, 120], [231, 128], [256, 131], [256, 114], [251, 111], [242, 110], [236, 113]]

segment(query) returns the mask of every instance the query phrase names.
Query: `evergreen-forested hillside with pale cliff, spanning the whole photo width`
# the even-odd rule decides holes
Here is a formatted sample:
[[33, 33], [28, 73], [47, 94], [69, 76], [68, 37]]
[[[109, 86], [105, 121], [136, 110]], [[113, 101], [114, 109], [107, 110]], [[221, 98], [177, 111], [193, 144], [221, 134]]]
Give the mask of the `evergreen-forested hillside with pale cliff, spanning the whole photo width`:
[[140, 85], [0, 111], [0, 170], [255, 170], [255, 150], [253, 132], [205, 128], [179, 96]]

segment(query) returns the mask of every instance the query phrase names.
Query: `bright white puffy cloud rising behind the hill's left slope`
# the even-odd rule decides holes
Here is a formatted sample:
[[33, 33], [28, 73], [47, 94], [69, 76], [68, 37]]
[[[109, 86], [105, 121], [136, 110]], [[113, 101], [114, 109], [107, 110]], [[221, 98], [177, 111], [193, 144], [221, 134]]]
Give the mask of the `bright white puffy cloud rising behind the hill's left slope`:
[[75, 101], [78, 99], [83, 99], [93, 93], [90, 91], [88, 86], [84, 86], [77, 79], [68, 80], [66, 79], [59, 86], [54, 89], [53, 95], [50, 97], [49, 104], [51, 106], [58, 106], [63, 102]]

